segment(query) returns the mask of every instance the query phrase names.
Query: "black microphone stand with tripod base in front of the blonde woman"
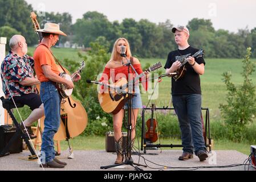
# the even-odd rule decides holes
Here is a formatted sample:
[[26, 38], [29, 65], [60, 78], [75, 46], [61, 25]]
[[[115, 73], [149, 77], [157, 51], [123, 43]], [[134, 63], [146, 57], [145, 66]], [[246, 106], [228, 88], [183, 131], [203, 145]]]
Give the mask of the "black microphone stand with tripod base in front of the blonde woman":
[[[123, 55], [122, 55], [123, 56]], [[126, 58], [126, 56], [123, 56]], [[135, 69], [133, 68], [131, 62], [129, 60], [127, 60], [127, 65], [128, 65], [128, 73], [129, 73], [129, 67], [131, 66], [133, 71], [135, 71]], [[136, 72], [136, 71], [135, 71]], [[128, 79], [129, 80], [129, 79]], [[125, 91], [124, 91], [125, 92]], [[133, 93], [133, 81], [128, 81], [128, 92], [124, 93], [123, 92], [123, 96], [124, 96], [124, 100], [125, 100], [125, 96], [126, 94], [128, 94], [128, 110], [127, 110], [127, 118], [128, 118], [128, 122], [127, 122], [127, 159], [125, 159], [125, 162], [121, 163], [121, 164], [113, 164], [113, 165], [109, 165], [109, 166], [101, 166], [101, 169], [108, 169], [111, 167], [116, 167], [116, 166], [121, 166], [121, 165], [130, 165], [132, 167], [134, 167], [137, 171], [143, 171], [143, 169], [137, 167], [137, 166], [144, 166], [147, 167], [145, 165], [142, 164], [137, 164], [133, 162], [132, 159], [132, 144], [131, 144], [131, 139], [132, 139], [132, 93]], [[125, 114], [125, 113], [124, 113]], [[136, 165], [136, 166], [135, 166]]]

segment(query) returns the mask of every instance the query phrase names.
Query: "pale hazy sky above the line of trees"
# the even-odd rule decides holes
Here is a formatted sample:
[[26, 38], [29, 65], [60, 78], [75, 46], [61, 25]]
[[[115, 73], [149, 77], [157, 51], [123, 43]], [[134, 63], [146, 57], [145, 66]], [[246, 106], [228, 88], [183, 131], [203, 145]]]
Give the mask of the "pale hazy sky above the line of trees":
[[176, 25], [186, 25], [193, 18], [210, 19], [213, 27], [237, 32], [238, 29], [256, 27], [255, 0], [25, 0], [34, 10], [42, 13], [70, 13], [72, 23], [87, 11], [97, 11], [113, 22], [124, 18], [136, 21], [148, 19], [159, 23], [169, 19]]

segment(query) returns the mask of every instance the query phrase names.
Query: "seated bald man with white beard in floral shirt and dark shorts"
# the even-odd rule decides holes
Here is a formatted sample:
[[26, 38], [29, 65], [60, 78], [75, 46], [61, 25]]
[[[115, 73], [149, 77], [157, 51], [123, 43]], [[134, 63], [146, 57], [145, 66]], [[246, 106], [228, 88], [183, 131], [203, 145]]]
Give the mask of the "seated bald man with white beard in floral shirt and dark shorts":
[[40, 81], [34, 77], [34, 59], [27, 53], [26, 39], [21, 35], [14, 35], [10, 39], [11, 51], [1, 65], [3, 93], [5, 97], [14, 102], [27, 105], [32, 110], [31, 114], [21, 128], [29, 132], [30, 138], [36, 138], [32, 133], [31, 125], [44, 115], [43, 104], [36, 89]]

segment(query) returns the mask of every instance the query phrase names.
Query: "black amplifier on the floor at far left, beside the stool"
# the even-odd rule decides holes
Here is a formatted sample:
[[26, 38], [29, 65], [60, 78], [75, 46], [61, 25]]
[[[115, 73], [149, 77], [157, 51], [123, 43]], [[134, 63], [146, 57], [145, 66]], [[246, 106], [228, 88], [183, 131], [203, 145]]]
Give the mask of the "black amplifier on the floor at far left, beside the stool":
[[[5, 146], [9, 143], [9, 140], [13, 137], [17, 128], [15, 125], [2, 125], [0, 126], [0, 153], [5, 148]], [[22, 152], [22, 138], [18, 137], [9, 147], [7, 152], [10, 154]]]

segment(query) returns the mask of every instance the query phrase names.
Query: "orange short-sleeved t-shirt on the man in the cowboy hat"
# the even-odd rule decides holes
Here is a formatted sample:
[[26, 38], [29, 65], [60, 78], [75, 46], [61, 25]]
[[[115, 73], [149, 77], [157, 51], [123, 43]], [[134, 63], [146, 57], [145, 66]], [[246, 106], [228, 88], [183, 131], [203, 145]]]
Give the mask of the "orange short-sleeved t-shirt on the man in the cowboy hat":
[[42, 43], [35, 49], [33, 57], [35, 62], [35, 73], [40, 82], [49, 81], [49, 79], [43, 74], [42, 65], [44, 64], [50, 65], [51, 71], [56, 73], [56, 75], [59, 75], [60, 72], [55, 63], [54, 57], [50, 50], [46, 46], [42, 45]]

